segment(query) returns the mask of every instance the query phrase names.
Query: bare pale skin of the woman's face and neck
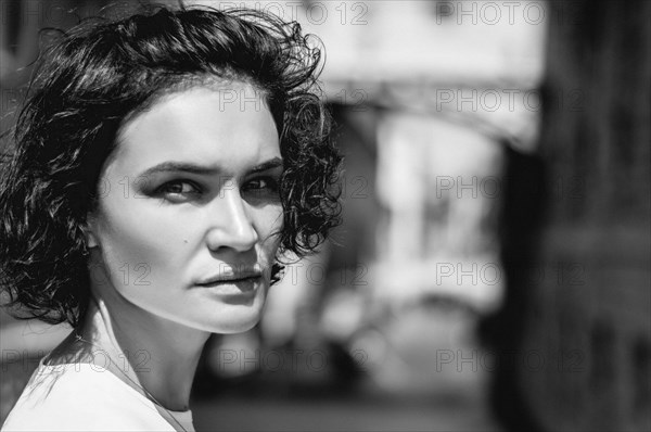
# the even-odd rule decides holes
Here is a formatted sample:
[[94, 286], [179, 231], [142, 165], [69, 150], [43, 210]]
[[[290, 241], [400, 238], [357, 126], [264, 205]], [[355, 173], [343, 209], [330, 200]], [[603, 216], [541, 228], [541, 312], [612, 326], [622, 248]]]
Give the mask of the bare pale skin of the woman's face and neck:
[[282, 229], [282, 160], [267, 105], [244, 94], [260, 96], [241, 82], [171, 92], [122, 127], [100, 177], [108, 190], [84, 227], [94, 301], [77, 332], [93, 346], [71, 334], [48, 364], [95, 361], [187, 410], [210, 333], [259, 320]]

